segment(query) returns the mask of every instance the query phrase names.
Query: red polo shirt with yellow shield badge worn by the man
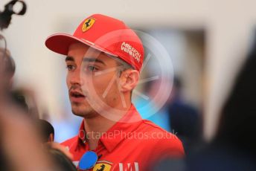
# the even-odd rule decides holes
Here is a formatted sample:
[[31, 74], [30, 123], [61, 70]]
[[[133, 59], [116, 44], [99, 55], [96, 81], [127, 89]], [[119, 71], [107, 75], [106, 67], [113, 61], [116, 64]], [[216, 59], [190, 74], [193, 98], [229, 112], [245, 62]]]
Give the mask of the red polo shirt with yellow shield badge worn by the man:
[[[124, 122], [131, 117], [138, 117], [138, 121]], [[149, 120], [142, 120], [133, 105], [121, 120], [123, 121], [115, 123], [100, 135], [97, 148], [93, 150], [99, 159], [92, 170], [148, 170], [153, 162], [161, 158], [179, 158], [184, 155], [182, 143], [176, 135]], [[79, 132], [74, 138], [62, 143], [74, 155], [75, 165], [89, 150], [89, 143], [85, 141], [84, 122], [81, 123]]]

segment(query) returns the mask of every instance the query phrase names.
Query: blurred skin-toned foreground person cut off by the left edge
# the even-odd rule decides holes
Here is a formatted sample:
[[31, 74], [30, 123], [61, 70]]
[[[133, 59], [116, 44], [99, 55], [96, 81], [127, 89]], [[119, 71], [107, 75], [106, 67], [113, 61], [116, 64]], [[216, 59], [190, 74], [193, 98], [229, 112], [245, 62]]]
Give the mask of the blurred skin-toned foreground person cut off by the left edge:
[[0, 47], [0, 170], [51, 170], [33, 125], [7, 97], [11, 74], [9, 52]]

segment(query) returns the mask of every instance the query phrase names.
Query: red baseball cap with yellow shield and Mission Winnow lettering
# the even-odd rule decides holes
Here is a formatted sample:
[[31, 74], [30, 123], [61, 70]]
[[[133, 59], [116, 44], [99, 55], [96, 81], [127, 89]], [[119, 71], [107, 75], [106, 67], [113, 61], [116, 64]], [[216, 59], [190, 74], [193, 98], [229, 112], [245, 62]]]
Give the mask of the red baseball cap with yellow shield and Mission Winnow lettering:
[[56, 33], [45, 41], [51, 51], [67, 55], [71, 44], [82, 42], [106, 54], [118, 57], [140, 71], [144, 59], [141, 39], [124, 22], [101, 14], [84, 19], [73, 35]]

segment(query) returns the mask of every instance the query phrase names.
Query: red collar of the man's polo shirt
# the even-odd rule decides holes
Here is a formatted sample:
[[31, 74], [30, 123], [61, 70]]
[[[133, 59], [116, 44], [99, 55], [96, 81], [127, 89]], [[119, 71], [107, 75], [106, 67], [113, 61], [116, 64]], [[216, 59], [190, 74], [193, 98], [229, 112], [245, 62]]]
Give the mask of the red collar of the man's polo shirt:
[[[121, 118], [118, 122], [116, 122], [107, 132], [105, 132], [100, 141], [103, 143], [103, 146], [109, 152], [112, 152], [113, 149], [124, 140], [127, 136], [129, 136], [130, 132], [133, 132], [136, 128], [138, 128], [141, 123], [141, 115], [138, 114], [135, 106], [131, 105], [130, 109], [124, 117]], [[84, 130], [84, 121], [80, 125], [80, 129], [78, 132], [78, 143], [86, 142], [86, 132]]]

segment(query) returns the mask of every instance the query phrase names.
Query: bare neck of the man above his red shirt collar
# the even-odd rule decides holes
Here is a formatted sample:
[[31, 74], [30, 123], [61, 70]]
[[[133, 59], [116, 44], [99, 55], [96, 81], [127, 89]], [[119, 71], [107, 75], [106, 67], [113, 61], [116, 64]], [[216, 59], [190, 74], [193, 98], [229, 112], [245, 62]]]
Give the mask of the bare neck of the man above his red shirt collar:
[[[129, 106], [123, 109], [122, 112], [118, 112], [118, 117], [115, 117], [113, 120], [109, 117], [104, 117], [101, 114], [97, 114], [96, 117], [84, 119], [84, 129], [86, 130], [86, 138], [88, 138], [90, 150], [96, 149], [101, 135], [115, 125], [118, 121], [117, 118], [121, 119], [121, 117], [124, 117], [124, 114], [128, 112], [130, 107], [131, 103], [129, 103]], [[109, 111], [109, 113], [111, 113], [111, 111]]]

